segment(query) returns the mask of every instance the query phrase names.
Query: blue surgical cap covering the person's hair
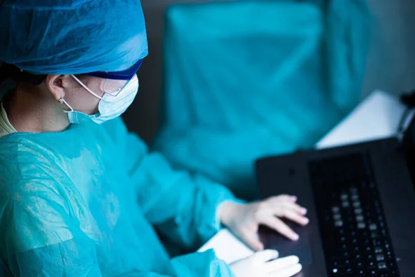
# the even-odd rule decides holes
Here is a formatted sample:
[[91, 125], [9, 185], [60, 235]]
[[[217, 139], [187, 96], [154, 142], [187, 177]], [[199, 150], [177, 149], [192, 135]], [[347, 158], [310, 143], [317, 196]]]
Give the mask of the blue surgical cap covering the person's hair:
[[140, 0], [6, 0], [0, 62], [35, 74], [122, 71], [147, 55]]

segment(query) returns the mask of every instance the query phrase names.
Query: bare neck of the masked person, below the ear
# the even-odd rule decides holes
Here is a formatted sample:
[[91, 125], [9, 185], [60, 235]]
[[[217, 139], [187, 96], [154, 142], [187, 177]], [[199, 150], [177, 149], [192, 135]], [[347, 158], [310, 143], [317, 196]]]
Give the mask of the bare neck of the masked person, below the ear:
[[18, 132], [62, 132], [69, 125], [62, 105], [50, 95], [17, 88], [3, 100], [10, 123]]

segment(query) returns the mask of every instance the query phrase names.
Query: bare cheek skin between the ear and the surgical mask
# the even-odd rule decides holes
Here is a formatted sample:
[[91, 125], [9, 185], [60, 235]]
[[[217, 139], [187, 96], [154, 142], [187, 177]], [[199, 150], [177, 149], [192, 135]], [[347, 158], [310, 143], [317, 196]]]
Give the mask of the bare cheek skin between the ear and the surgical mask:
[[65, 100], [75, 111], [81, 111], [84, 114], [96, 114], [98, 112], [100, 99], [85, 89], [77, 89], [72, 93], [67, 93]]

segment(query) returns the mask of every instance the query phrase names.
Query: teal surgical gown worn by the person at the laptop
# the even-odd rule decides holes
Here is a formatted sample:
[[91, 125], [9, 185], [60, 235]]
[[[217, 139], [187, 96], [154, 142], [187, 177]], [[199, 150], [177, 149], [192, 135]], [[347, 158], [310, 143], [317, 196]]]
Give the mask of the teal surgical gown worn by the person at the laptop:
[[0, 276], [233, 276], [213, 251], [223, 186], [174, 172], [120, 118], [0, 139]]

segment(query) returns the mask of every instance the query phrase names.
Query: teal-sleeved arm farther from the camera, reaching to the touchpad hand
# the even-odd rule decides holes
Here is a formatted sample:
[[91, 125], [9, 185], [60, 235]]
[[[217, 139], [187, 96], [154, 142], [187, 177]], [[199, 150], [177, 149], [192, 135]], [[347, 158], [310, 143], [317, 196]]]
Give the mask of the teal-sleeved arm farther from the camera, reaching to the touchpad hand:
[[128, 149], [138, 153], [131, 164], [131, 184], [147, 220], [172, 242], [195, 250], [220, 228], [216, 211], [220, 204], [234, 200], [230, 191], [201, 176], [175, 171], [161, 154], [148, 153], [135, 134], [127, 136]]

